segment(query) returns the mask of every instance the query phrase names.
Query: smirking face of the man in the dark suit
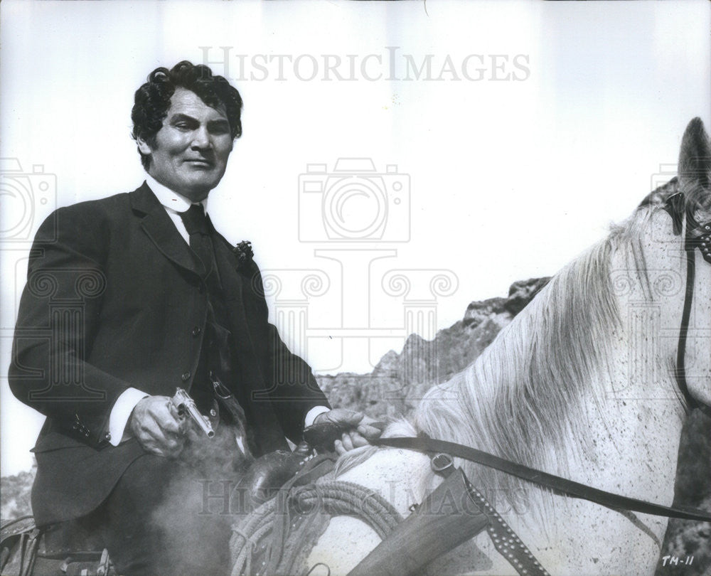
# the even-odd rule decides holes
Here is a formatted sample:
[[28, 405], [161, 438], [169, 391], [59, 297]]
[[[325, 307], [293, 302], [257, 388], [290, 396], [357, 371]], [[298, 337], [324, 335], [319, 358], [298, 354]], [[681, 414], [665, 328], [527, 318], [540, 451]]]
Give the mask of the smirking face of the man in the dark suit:
[[155, 148], [142, 139], [138, 144], [143, 154], [151, 155], [151, 176], [198, 202], [225, 174], [232, 151], [230, 122], [223, 105], [211, 108], [195, 92], [178, 87]]

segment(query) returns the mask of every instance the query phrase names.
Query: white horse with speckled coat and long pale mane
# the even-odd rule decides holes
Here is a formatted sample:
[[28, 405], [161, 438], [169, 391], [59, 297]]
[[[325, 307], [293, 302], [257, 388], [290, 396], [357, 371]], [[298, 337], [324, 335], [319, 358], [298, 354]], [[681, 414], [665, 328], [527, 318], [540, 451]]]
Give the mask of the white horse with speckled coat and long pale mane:
[[[681, 191], [711, 220], [711, 150], [699, 119], [685, 132], [678, 179], [649, 196], [608, 238], [565, 267], [479, 358], [429, 390], [414, 426], [389, 436], [466, 444], [588, 486], [669, 505], [685, 398], [675, 380], [687, 279], [685, 230], [663, 209]], [[683, 220], [684, 229], [688, 219]], [[690, 398], [711, 404], [711, 264], [694, 251], [685, 372]], [[377, 491], [402, 514], [442, 479], [429, 457], [366, 447], [339, 479]], [[667, 519], [616, 511], [456, 460], [552, 574], [651, 574]], [[346, 574], [380, 538], [333, 518], [311, 551], [311, 574]], [[317, 562], [324, 565], [316, 566]], [[508, 575], [486, 531], [432, 562], [428, 573]]]

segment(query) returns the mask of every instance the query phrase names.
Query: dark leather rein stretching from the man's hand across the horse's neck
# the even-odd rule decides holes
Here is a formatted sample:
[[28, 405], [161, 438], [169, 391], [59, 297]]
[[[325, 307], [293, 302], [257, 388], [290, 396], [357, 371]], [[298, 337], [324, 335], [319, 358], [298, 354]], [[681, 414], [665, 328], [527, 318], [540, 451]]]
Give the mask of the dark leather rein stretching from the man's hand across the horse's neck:
[[643, 514], [653, 514], [654, 516], [665, 516], [666, 518], [682, 518], [683, 520], [697, 520], [701, 522], [711, 522], [711, 513], [698, 508], [681, 508], [678, 506], [662, 506], [637, 498], [629, 498], [612, 492], [607, 492], [592, 486], [586, 486], [572, 480], [548, 474], [547, 472], [529, 468], [523, 464], [516, 464], [509, 460], [482, 452], [476, 448], [445, 442], [428, 437], [392, 437], [378, 438], [370, 440], [375, 446], [389, 446], [392, 448], [405, 448], [416, 450], [417, 452], [444, 452], [450, 456], [464, 458], [469, 462], [483, 464], [489, 468], [506, 472], [517, 478], [528, 480], [533, 484], [538, 484], [543, 488], [551, 489], [571, 498], [582, 498], [584, 500], [607, 506], [608, 508], [619, 508]]

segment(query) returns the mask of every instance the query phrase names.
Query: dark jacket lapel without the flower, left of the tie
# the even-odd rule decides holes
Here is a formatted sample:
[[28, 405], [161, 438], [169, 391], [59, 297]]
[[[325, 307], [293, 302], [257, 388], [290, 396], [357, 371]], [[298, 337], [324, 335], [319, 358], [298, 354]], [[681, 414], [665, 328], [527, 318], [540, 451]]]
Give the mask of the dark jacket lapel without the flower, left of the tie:
[[142, 217], [141, 228], [163, 255], [176, 265], [199, 275], [201, 266], [148, 184], [144, 182], [130, 193], [130, 198], [132, 208]]

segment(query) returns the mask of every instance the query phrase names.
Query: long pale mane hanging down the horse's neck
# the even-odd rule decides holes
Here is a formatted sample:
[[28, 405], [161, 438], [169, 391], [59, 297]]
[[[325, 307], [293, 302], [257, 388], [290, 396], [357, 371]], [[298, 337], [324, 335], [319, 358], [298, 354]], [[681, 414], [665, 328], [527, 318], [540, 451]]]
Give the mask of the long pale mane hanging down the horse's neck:
[[[566, 476], [564, 447], [571, 437], [589, 436], [588, 403], [602, 405], [610, 380], [611, 338], [621, 325], [611, 256], [624, 256], [651, 297], [641, 235], [659, 209], [660, 203], [648, 203], [612, 226], [606, 239], [553, 277], [474, 363], [430, 389], [415, 412], [417, 430]], [[477, 486], [495, 490], [511, 506], [525, 506], [518, 479], [461, 465]]]

